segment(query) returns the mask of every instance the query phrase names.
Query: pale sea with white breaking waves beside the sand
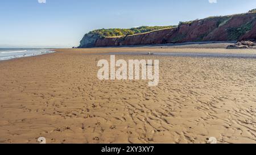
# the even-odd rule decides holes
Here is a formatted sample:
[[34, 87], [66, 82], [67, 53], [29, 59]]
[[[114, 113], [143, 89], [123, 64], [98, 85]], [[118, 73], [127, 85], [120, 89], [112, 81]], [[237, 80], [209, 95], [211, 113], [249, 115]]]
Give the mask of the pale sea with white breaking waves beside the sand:
[[53, 53], [51, 49], [38, 48], [0, 48], [0, 61], [20, 57], [31, 57]]

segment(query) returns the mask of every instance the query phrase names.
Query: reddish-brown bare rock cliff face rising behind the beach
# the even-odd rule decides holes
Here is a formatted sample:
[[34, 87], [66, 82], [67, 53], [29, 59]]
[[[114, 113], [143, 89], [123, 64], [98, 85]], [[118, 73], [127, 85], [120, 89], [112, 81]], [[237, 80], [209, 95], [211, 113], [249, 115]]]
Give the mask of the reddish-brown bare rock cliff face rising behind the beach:
[[220, 16], [181, 23], [179, 27], [121, 37], [86, 34], [80, 48], [190, 41], [256, 41], [256, 13]]

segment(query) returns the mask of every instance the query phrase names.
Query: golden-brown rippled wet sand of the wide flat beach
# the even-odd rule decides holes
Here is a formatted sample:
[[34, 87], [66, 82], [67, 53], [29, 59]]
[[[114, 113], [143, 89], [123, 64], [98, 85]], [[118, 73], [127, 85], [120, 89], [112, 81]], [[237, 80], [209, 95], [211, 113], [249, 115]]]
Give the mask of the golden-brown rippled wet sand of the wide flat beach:
[[[256, 60], [159, 59], [160, 82], [100, 81], [104, 52], [219, 52], [188, 48], [58, 49], [0, 62], [0, 143], [256, 143]], [[87, 53], [87, 54], [86, 54]]]

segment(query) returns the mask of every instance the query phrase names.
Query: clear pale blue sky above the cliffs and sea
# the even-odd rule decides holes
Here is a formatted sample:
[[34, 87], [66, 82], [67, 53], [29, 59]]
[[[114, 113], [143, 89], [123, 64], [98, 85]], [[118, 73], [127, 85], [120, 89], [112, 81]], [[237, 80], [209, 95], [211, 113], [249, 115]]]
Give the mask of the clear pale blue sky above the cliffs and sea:
[[168, 26], [256, 8], [255, 0], [1, 0], [0, 47], [72, 47], [98, 28]]

